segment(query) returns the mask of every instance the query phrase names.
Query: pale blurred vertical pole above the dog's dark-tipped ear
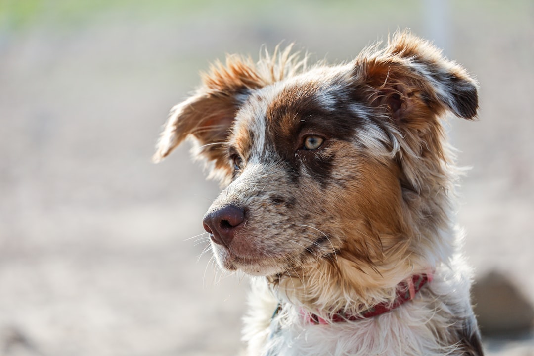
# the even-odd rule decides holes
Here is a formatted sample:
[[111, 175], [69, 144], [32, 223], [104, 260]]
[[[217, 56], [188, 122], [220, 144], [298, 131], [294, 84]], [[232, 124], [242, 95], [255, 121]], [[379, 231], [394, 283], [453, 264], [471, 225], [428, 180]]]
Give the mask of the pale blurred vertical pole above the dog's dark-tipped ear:
[[451, 12], [449, 0], [423, 0], [423, 24], [426, 37], [443, 49], [445, 56], [452, 56], [450, 43]]

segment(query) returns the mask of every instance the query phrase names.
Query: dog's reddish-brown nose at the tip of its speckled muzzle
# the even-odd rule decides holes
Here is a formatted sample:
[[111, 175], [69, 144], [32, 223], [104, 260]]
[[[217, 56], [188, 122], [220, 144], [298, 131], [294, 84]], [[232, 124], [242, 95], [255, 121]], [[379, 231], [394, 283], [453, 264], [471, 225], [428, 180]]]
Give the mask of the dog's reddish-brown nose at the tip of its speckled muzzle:
[[235, 205], [225, 205], [204, 216], [204, 230], [211, 234], [213, 242], [230, 247], [235, 231], [245, 221], [245, 210]]

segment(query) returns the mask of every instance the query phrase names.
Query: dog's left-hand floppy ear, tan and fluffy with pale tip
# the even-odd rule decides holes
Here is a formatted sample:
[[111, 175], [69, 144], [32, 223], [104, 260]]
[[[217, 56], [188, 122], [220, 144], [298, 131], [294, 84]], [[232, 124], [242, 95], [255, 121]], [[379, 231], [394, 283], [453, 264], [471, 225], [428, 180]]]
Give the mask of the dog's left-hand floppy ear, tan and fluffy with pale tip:
[[202, 86], [189, 99], [171, 109], [161, 133], [154, 162], [160, 162], [187, 137], [194, 139], [195, 158], [213, 162], [212, 175], [231, 172], [226, 149], [239, 107], [250, 92], [266, 84], [250, 59], [228, 56], [201, 74]]

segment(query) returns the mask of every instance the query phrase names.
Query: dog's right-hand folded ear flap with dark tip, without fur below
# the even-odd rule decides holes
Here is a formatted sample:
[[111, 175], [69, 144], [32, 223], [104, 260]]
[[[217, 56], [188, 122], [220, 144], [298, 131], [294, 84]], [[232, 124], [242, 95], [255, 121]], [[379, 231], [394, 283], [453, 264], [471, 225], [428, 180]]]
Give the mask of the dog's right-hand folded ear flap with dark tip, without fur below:
[[382, 51], [373, 50], [356, 59], [354, 75], [368, 99], [386, 107], [396, 123], [423, 129], [425, 120], [445, 110], [466, 119], [476, 116], [476, 82], [429, 42], [403, 31]]

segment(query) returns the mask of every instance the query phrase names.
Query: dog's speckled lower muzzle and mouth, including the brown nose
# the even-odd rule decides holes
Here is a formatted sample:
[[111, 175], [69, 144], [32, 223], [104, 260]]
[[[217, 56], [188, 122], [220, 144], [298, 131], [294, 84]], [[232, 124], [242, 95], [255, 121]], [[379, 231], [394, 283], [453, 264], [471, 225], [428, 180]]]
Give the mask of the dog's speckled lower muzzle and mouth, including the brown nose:
[[335, 255], [331, 237], [312, 225], [267, 223], [237, 204], [213, 205], [203, 218], [219, 266], [255, 276], [298, 270]]

